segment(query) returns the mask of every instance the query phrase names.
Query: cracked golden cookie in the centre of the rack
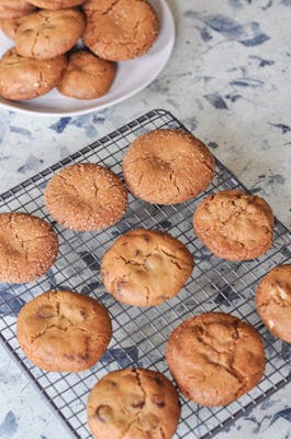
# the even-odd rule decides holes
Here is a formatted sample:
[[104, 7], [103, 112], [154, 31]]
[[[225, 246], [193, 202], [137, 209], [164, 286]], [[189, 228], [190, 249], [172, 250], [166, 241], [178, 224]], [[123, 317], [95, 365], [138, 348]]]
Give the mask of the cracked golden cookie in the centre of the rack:
[[176, 296], [193, 270], [186, 245], [168, 233], [136, 229], [105, 252], [101, 278], [108, 293], [134, 306], [154, 306]]

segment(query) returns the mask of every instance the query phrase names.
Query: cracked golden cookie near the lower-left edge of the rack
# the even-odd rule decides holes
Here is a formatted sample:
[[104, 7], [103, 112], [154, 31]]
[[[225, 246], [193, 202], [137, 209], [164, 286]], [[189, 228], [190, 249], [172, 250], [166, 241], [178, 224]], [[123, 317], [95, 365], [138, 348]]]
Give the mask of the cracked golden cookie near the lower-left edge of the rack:
[[92, 297], [47, 292], [21, 309], [18, 340], [25, 355], [51, 372], [79, 372], [105, 352], [112, 336], [108, 310]]

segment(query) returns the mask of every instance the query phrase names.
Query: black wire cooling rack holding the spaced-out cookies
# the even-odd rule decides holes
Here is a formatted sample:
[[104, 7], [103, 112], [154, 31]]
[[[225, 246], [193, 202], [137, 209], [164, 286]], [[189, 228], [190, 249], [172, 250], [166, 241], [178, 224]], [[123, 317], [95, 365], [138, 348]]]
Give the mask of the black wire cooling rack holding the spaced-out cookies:
[[[53, 174], [76, 162], [100, 163], [121, 174], [124, 150], [142, 133], [157, 128], [184, 127], [169, 112], [154, 110], [127, 123], [98, 142], [27, 179], [0, 196], [0, 211], [22, 210], [52, 221], [43, 193]], [[209, 193], [243, 188], [236, 177], [216, 161], [216, 174], [208, 191], [194, 200], [177, 206], [157, 206], [130, 195], [125, 217], [114, 227], [100, 232], [77, 233], [53, 223], [59, 237], [56, 264], [36, 283], [0, 285], [0, 339], [44, 396], [72, 438], [89, 439], [86, 420], [88, 393], [107, 372], [125, 366], [158, 370], [169, 376], [165, 362], [165, 344], [169, 333], [182, 320], [202, 311], [224, 311], [247, 320], [260, 332], [265, 342], [267, 367], [265, 377], [247, 395], [226, 407], [205, 408], [181, 397], [182, 415], [175, 438], [211, 438], [247, 409], [270, 396], [291, 380], [289, 344], [275, 339], [261, 325], [254, 303], [254, 290], [277, 264], [290, 262], [291, 233], [276, 221], [272, 248], [259, 259], [231, 263], [212, 255], [195, 238], [192, 215]], [[122, 233], [135, 228], [167, 231], [187, 244], [195, 266], [179, 295], [157, 307], [138, 308], [119, 304], [100, 283], [100, 261], [104, 251]], [[105, 305], [113, 321], [113, 338], [103, 358], [81, 373], [47, 373], [35, 367], [21, 352], [15, 337], [16, 315], [23, 304], [52, 288], [67, 288], [96, 297]]]

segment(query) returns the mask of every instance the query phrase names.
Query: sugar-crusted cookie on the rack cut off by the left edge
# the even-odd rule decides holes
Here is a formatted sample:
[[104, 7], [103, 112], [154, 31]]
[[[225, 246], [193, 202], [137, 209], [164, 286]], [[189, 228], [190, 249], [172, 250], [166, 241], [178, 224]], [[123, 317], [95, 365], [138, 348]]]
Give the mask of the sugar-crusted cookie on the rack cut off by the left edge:
[[0, 282], [33, 282], [54, 264], [55, 231], [45, 220], [24, 212], [0, 213]]

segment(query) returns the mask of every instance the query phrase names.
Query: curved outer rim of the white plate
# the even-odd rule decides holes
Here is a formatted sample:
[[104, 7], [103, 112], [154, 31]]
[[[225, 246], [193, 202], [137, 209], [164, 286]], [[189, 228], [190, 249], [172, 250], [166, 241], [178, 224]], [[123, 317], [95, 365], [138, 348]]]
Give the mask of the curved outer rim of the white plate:
[[[167, 25], [167, 29], [169, 31], [169, 39], [167, 41], [168, 50], [167, 50], [167, 53], [166, 53], [166, 57], [165, 57], [164, 62], [160, 64], [160, 66], [154, 73], [154, 76], [149, 77], [148, 80], [145, 80], [143, 84], [141, 84], [138, 87], [136, 87], [132, 91], [128, 91], [127, 94], [125, 94], [123, 96], [120, 96], [119, 98], [114, 99], [113, 101], [101, 103], [101, 105], [96, 106], [96, 107], [78, 109], [78, 110], [68, 110], [68, 111], [54, 111], [54, 110], [53, 111], [51, 111], [51, 110], [42, 111], [41, 109], [40, 110], [33, 110], [33, 109], [30, 109], [30, 108], [16, 107], [16, 106], [10, 105], [9, 101], [8, 101], [8, 103], [0, 101], [0, 110], [3, 109], [3, 110], [15, 112], [15, 113], [37, 116], [37, 117], [41, 117], [41, 118], [44, 118], [44, 117], [65, 118], [65, 117], [88, 114], [88, 113], [91, 113], [91, 112], [94, 112], [94, 111], [101, 111], [101, 110], [104, 110], [107, 108], [114, 107], [115, 105], [117, 105], [117, 103], [120, 103], [120, 102], [122, 102], [122, 101], [124, 101], [126, 99], [130, 99], [134, 95], [137, 95], [139, 91], [142, 91], [143, 89], [148, 87], [149, 84], [152, 84], [158, 77], [158, 75], [163, 72], [163, 69], [165, 68], [165, 66], [167, 65], [167, 63], [168, 63], [168, 61], [170, 58], [170, 55], [172, 53], [174, 45], [175, 45], [176, 25], [175, 25], [175, 20], [174, 20], [174, 15], [172, 15], [171, 9], [168, 6], [168, 2], [166, 0], [156, 0], [156, 1], [161, 6], [161, 8], [167, 13], [166, 25]], [[149, 0], [149, 2], [150, 2], [150, 0]], [[138, 59], [138, 58], [135, 58], [135, 59]], [[1, 96], [0, 96], [0, 98], [1, 98]], [[66, 98], [66, 97], [64, 97], [64, 98]], [[19, 103], [19, 102], [21, 105], [21, 101], [15, 101], [15, 103]]]

